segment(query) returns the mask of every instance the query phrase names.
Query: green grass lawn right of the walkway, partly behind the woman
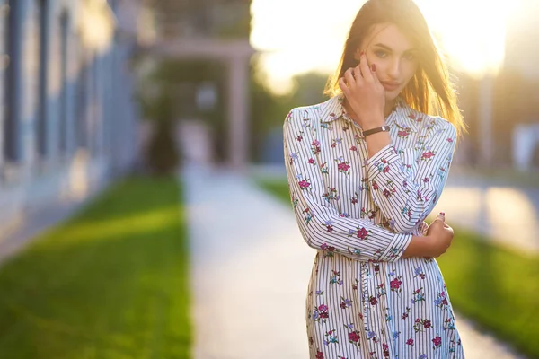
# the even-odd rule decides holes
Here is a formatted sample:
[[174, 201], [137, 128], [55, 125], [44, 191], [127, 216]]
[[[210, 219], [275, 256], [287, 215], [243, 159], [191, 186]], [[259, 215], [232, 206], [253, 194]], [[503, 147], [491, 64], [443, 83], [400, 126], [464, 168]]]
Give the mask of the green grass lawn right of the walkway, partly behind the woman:
[[[257, 182], [290, 202], [286, 180]], [[455, 228], [451, 248], [437, 262], [457, 311], [522, 353], [539, 358], [538, 256], [499, 248], [473, 232]]]

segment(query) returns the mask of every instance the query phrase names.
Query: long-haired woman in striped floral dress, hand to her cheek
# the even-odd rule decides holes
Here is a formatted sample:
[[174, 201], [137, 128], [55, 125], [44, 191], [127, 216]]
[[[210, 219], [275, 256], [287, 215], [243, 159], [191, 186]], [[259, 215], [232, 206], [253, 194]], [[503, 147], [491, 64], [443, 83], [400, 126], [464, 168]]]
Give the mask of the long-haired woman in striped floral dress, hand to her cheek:
[[434, 258], [453, 239], [437, 203], [464, 129], [446, 66], [411, 0], [370, 0], [331, 99], [284, 123], [290, 196], [317, 250], [310, 357], [464, 358]]

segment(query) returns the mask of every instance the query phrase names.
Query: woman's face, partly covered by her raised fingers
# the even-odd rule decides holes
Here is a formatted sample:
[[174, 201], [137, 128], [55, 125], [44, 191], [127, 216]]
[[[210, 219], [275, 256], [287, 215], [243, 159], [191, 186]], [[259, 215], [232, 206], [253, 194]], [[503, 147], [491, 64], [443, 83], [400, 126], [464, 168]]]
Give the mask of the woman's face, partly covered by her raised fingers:
[[355, 53], [367, 54], [369, 65], [376, 64], [376, 74], [385, 88], [386, 101], [394, 100], [406, 87], [418, 68], [418, 52], [402, 31], [391, 23], [380, 23]]

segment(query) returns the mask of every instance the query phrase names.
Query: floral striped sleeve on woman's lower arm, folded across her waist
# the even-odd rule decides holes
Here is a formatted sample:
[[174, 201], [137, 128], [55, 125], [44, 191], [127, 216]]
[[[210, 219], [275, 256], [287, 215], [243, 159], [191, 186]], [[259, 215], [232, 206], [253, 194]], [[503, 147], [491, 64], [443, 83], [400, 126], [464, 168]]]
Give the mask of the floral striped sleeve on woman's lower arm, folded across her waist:
[[287, 180], [296, 222], [307, 244], [317, 250], [339, 252], [358, 260], [395, 261], [411, 241], [411, 233], [393, 233], [365, 219], [340, 216], [323, 198], [323, 177], [309, 163], [316, 153], [311, 144], [314, 116], [292, 109], [285, 119], [284, 151]]

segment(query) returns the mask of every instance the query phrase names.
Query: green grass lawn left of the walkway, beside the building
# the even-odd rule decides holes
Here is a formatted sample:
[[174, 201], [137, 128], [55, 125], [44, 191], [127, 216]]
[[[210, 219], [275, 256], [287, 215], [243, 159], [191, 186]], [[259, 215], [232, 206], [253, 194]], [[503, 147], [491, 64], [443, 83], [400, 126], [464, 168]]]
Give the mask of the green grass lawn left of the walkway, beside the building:
[[0, 357], [189, 358], [185, 208], [173, 177], [120, 180], [0, 268]]

